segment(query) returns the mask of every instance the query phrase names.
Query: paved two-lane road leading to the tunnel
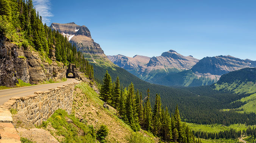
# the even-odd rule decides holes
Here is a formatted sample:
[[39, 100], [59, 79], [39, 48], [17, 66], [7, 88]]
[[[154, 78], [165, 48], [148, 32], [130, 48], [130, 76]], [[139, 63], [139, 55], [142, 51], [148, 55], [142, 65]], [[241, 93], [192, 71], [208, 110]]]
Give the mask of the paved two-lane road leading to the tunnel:
[[57, 88], [58, 86], [70, 84], [73, 82], [78, 82], [78, 81], [74, 78], [68, 78], [67, 81], [64, 81], [64, 82], [0, 90], [0, 105], [3, 105], [3, 103], [5, 103], [11, 97], [14, 97], [14, 96], [18, 96], [18, 97], [27, 96], [27, 95], [34, 94], [34, 92], [36, 91], [46, 91], [50, 88]]

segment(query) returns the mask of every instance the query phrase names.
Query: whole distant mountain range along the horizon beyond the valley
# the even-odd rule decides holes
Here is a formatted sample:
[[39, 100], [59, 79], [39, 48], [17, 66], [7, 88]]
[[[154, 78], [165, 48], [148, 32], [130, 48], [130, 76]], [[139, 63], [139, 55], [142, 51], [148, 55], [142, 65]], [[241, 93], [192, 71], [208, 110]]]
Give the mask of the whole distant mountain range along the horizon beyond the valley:
[[107, 57], [140, 79], [167, 86], [210, 85], [230, 71], [256, 67], [256, 61], [250, 59], [221, 55], [198, 60], [193, 56], [183, 56], [174, 50], [152, 58], [138, 55], [133, 58], [123, 55]]

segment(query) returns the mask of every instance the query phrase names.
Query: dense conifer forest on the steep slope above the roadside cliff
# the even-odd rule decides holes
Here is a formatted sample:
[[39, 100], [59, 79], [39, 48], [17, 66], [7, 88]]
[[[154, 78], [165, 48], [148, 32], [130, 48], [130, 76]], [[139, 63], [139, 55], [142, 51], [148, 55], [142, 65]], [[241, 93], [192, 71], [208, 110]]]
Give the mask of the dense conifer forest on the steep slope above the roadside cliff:
[[51, 30], [42, 23], [32, 0], [1, 0], [0, 1], [0, 34], [25, 50], [32, 48], [39, 52], [49, 64], [52, 63], [51, 52], [55, 51], [56, 61], [64, 65], [74, 63], [90, 79], [94, 79], [94, 69], [84, 59], [81, 52], [76, 51], [66, 37]]

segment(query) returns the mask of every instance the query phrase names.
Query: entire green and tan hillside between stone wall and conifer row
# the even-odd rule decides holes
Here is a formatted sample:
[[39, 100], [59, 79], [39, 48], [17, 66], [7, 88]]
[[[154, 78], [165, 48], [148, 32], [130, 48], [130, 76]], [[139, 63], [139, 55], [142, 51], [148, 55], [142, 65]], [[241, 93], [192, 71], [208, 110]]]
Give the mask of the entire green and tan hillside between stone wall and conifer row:
[[[68, 122], [69, 119], [72, 123]], [[109, 133], [107, 143], [128, 143], [128, 138], [134, 131], [116, 116], [116, 110], [109, 106], [103, 108], [103, 101], [91, 85], [81, 83], [76, 85], [73, 94], [72, 114], [58, 109], [44, 122], [41, 128], [47, 129], [60, 143], [95, 143], [95, 133], [101, 125], [106, 125]], [[141, 130], [142, 138], [147, 143], [159, 140], [151, 133]], [[99, 141], [97, 141], [99, 142]]]

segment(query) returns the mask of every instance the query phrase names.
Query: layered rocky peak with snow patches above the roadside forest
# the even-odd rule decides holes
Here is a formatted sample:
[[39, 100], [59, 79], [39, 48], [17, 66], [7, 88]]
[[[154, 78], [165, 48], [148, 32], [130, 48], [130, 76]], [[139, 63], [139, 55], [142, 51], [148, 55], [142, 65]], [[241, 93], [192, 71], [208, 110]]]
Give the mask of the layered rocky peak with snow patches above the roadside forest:
[[66, 36], [71, 44], [75, 44], [78, 51], [91, 54], [104, 54], [100, 45], [92, 39], [91, 32], [86, 26], [79, 26], [72, 22], [66, 24], [52, 23], [50, 27]]

